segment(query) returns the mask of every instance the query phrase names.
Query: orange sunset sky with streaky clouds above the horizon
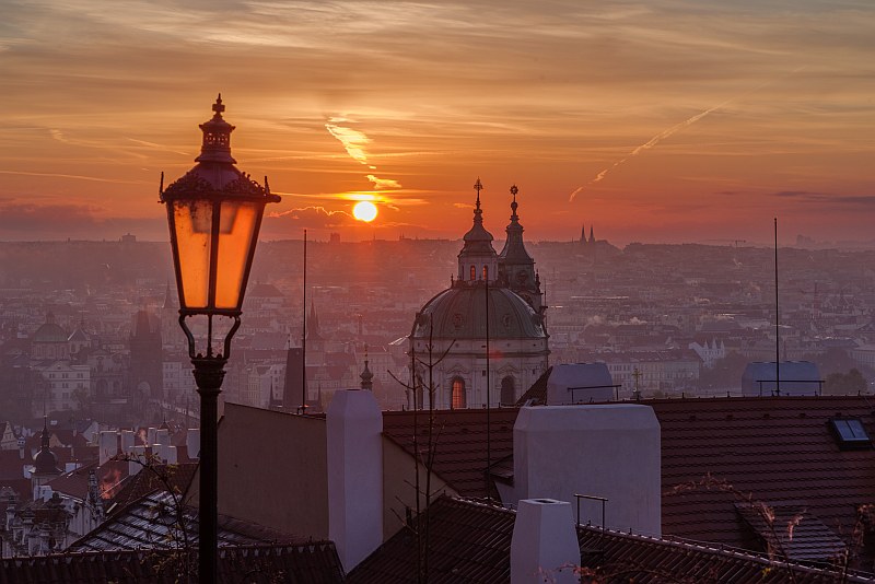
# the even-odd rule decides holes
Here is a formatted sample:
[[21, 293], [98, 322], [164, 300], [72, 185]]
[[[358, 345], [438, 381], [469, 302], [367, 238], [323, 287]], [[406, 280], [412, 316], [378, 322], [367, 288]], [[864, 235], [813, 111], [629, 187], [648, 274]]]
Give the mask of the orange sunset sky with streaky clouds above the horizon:
[[532, 240], [868, 241], [873, 31], [871, 0], [5, 0], [0, 240], [165, 238], [221, 91], [265, 238], [456, 238], [479, 176], [497, 240], [515, 183]]

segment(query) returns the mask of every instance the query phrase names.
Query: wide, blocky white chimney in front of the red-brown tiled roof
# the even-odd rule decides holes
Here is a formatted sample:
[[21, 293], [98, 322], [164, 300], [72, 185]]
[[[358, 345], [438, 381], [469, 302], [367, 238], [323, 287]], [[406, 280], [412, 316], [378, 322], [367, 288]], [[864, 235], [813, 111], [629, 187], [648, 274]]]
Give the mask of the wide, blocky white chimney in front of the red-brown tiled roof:
[[[513, 429], [514, 499], [607, 499], [605, 526], [662, 534], [660, 422], [650, 406], [521, 408]], [[582, 524], [602, 526], [602, 502], [580, 501]]]

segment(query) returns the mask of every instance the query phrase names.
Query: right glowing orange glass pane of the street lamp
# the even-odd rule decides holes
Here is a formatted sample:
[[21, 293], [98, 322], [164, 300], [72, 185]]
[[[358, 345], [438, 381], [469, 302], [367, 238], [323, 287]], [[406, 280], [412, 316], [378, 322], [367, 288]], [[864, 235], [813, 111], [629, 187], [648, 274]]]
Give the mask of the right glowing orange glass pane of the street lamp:
[[262, 209], [260, 201], [222, 201], [215, 278], [217, 308], [240, 307], [249, 248], [255, 245], [255, 225]]

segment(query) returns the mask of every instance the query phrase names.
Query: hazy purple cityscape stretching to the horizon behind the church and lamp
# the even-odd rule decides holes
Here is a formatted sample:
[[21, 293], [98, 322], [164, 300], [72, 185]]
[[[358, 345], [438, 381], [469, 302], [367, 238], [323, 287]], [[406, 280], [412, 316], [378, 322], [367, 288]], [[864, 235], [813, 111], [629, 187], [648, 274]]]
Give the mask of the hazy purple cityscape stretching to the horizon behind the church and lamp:
[[[628, 399], [635, 390], [643, 397], [740, 395], [745, 365], [774, 361], [772, 249], [744, 242], [620, 249], [586, 240], [527, 242], [548, 303], [550, 364], [603, 361], [619, 397]], [[825, 382], [852, 369], [871, 379], [875, 272], [865, 266], [875, 252], [803, 245], [779, 250], [781, 360], [812, 361]], [[317, 410], [327, 408], [335, 389], [358, 384], [365, 351], [383, 408], [409, 408], [393, 376], [409, 377], [406, 338], [415, 315], [450, 284], [458, 248], [444, 240], [346, 243], [338, 235], [310, 242], [305, 308], [303, 242], [264, 242], [225, 400], [267, 408], [291, 394], [287, 353], [301, 347], [306, 309], [322, 343], [319, 352], [311, 347], [307, 375]], [[166, 244], [127, 235], [120, 242], [5, 243], [0, 253], [7, 372], [0, 398], [9, 421], [27, 424], [44, 410], [103, 413], [116, 424], [156, 424], [186, 409], [196, 416]], [[34, 335], [49, 319], [69, 337], [63, 360], [31, 353]], [[60, 361], [71, 379], [88, 365], [85, 382], [78, 373], [69, 390], [46, 394], [40, 384]], [[143, 387], [138, 394], [143, 383], [147, 395], [140, 395]], [[822, 389], [859, 390], [835, 375]], [[175, 410], [153, 408], [143, 419], [138, 399]], [[101, 409], [109, 401], [112, 413]]]

